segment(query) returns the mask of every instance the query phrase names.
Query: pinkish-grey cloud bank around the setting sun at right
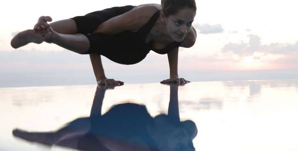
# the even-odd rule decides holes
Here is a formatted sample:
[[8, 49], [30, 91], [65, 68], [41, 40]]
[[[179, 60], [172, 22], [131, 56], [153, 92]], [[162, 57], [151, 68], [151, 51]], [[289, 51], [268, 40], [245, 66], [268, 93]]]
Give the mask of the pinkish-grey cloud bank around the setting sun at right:
[[298, 41], [294, 44], [271, 43], [263, 45], [259, 36], [248, 35], [248, 37], [249, 42], [240, 41], [224, 45], [219, 54], [224, 58], [235, 56], [235, 63], [246, 68], [297, 69]]

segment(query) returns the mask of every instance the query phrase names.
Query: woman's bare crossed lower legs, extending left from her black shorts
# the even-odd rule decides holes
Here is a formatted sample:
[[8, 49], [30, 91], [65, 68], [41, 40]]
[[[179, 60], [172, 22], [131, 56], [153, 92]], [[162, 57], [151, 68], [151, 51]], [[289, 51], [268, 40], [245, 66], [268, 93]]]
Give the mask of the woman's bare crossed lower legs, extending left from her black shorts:
[[[57, 23], [55, 22], [53, 23], [54, 28], [52, 28], [52, 25], [50, 25], [47, 29], [48, 31], [44, 30], [44, 32], [41, 33], [37, 33], [34, 30], [22, 31], [15, 37], [13, 37], [13, 39], [11, 40], [11, 46], [16, 49], [29, 43], [40, 44], [42, 42], [47, 42], [56, 44], [77, 53], [86, 52], [89, 49], [89, 40], [83, 34], [73, 35], [73, 33], [76, 32], [76, 26], [74, 21], [71, 20], [72, 19], [58, 21]], [[55, 29], [61, 33], [58, 33], [57, 31], [55, 31]]]

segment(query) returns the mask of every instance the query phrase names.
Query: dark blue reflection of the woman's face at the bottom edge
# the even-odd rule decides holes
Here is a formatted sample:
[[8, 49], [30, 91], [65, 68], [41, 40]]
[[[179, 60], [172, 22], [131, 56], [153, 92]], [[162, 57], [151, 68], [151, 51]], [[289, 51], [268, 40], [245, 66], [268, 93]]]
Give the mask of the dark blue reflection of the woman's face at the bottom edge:
[[183, 128], [177, 128], [171, 133], [163, 151], [192, 151], [191, 141]]

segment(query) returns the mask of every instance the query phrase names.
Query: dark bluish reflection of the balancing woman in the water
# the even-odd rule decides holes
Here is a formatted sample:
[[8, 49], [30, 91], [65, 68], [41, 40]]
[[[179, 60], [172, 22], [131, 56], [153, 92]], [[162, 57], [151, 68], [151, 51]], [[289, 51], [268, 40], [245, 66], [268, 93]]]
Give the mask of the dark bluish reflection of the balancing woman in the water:
[[[170, 88], [168, 115], [161, 114], [152, 118], [146, 106], [134, 103], [115, 105], [101, 115], [105, 89], [98, 87], [90, 117], [76, 119], [57, 132], [29, 133], [14, 130], [13, 134], [32, 142], [85, 151], [193, 151], [196, 125], [190, 120], [180, 122], [178, 86], [172, 85]], [[87, 145], [88, 142], [82, 141], [82, 138], [95, 144]]]

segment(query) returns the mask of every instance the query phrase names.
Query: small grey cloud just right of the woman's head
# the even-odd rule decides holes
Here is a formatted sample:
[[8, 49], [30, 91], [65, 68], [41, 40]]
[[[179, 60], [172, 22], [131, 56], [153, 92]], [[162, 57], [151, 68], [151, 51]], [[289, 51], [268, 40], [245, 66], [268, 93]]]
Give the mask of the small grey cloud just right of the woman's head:
[[198, 29], [201, 34], [216, 34], [216, 33], [222, 33], [224, 31], [221, 24], [216, 24], [216, 25], [196, 24], [194, 25], [194, 27]]

